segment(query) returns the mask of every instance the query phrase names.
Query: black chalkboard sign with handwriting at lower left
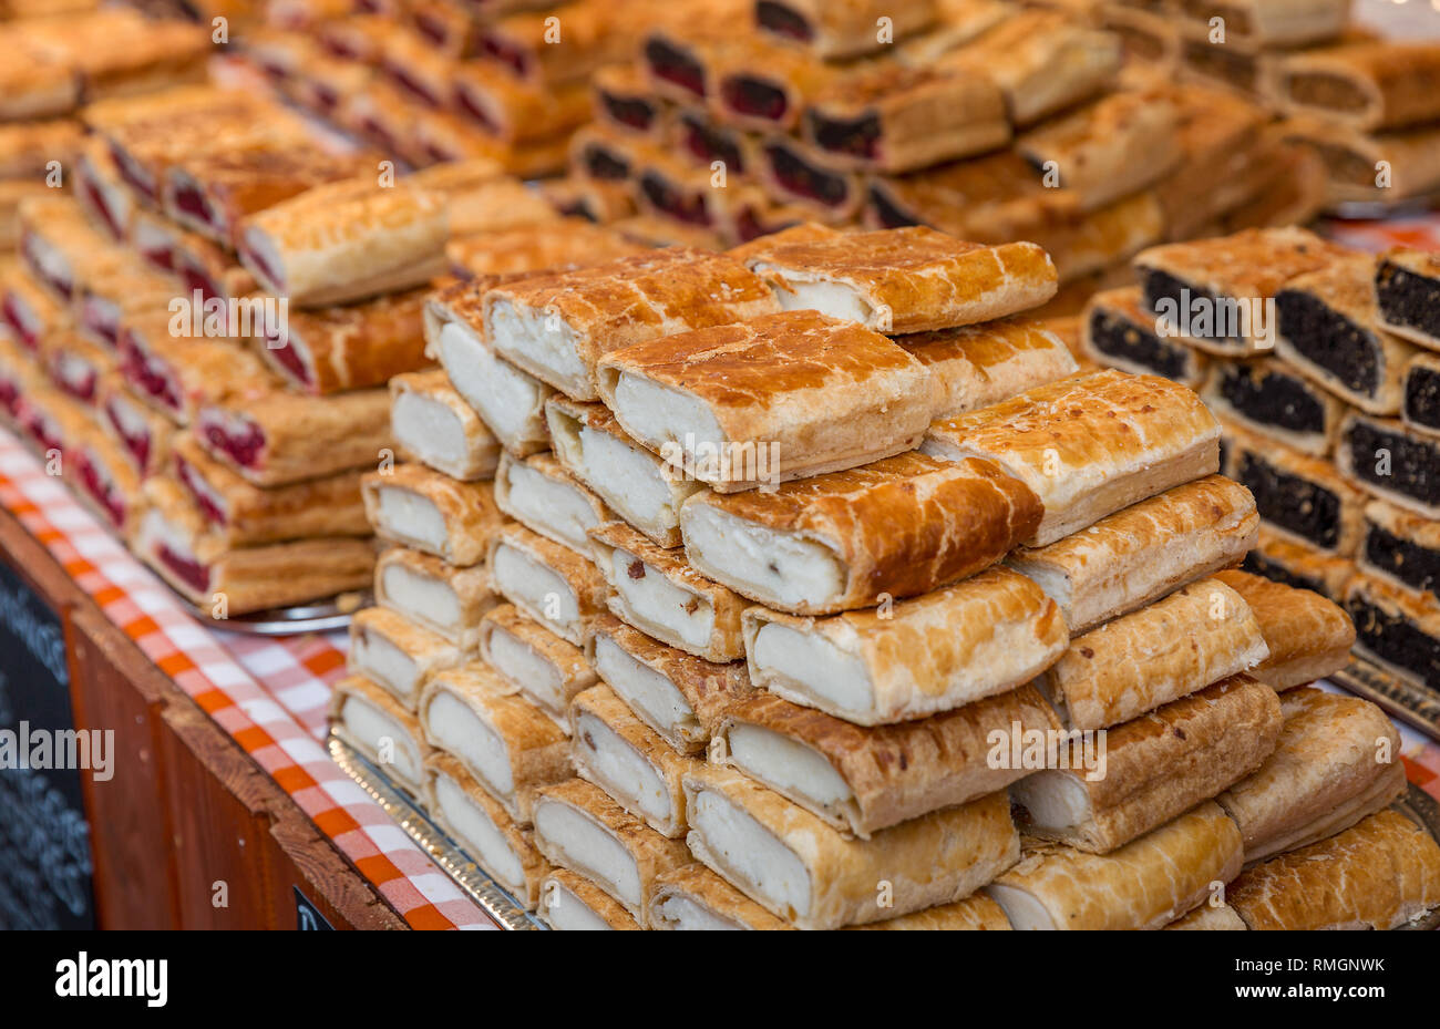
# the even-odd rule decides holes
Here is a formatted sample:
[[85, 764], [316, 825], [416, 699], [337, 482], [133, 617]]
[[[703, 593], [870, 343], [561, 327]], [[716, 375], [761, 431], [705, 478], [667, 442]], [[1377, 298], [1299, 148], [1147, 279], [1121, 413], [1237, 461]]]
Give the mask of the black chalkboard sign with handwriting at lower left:
[[75, 731], [60, 619], [0, 561], [0, 928], [94, 928], [79, 770], [112, 738]]

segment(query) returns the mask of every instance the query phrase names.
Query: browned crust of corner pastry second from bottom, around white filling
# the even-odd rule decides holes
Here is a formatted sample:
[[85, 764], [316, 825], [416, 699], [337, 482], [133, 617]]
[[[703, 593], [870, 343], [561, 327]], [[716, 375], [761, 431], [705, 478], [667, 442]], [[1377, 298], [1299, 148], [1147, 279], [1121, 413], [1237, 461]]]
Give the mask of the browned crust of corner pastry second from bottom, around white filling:
[[[762, 689], [726, 711], [717, 733], [727, 747], [736, 725], [766, 730], [824, 757], [850, 786], [852, 797], [816, 810], [814, 800], [779, 783], [765, 784], [847, 836], [870, 839], [883, 829], [969, 803], [1028, 776], [1030, 769], [1009, 767], [1008, 761], [995, 767], [992, 737], [1051, 733], [1060, 728], [1060, 721], [1040, 692], [1025, 685], [929, 718], [873, 728], [802, 708]], [[726, 764], [736, 767], [733, 760]]]

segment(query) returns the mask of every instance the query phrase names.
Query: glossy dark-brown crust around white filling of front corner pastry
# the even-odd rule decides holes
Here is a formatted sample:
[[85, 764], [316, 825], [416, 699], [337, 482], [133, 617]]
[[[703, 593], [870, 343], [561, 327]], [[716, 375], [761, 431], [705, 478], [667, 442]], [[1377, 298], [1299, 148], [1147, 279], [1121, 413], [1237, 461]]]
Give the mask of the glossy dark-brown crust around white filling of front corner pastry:
[[681, 532], [703, 509], [816, 543], [844, 568], [840, 596], [788, 603], [727, 574], [724, 554], [685, 556], [703, 574], [792, 615], [832, 615], [910, 597], [981, 571], [1040, 524], [1038, 498], [991, 461], [958, 463], [917, 452], [782, 485], [775, 492], [700, 492], [681, 508]]

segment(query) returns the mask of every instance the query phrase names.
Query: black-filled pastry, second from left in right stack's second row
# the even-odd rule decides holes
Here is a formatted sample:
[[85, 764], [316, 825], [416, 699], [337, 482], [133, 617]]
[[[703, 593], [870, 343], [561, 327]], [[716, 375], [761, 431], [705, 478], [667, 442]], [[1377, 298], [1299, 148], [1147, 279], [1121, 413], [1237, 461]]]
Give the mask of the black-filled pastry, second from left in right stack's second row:
[[1201, 397], [1220, 417], [1312, 458], [1331, 452], [1345, 403], [1276, 357], [1215, 361]]

